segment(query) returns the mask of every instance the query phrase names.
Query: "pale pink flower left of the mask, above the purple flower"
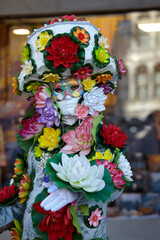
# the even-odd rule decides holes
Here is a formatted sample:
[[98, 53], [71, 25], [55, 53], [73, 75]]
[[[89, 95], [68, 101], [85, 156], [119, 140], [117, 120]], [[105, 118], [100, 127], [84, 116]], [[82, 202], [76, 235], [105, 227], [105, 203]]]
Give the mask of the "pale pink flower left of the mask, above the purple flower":
[[46, 99], [51, 97], [51, 89], [47, 85], [41, 86], [34, 94], [36, 107], [42, 108], [46, 104]]

